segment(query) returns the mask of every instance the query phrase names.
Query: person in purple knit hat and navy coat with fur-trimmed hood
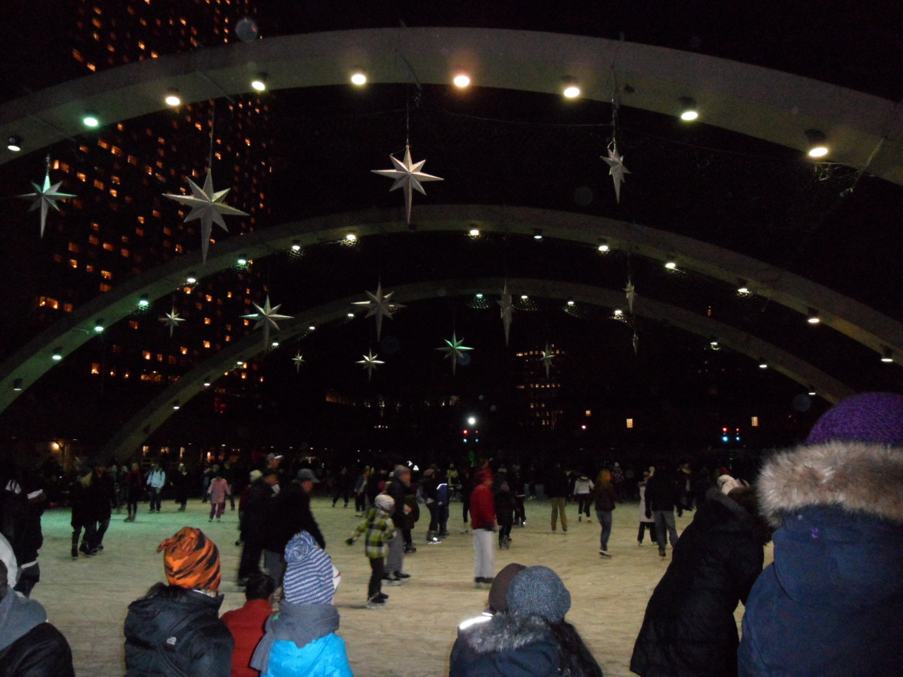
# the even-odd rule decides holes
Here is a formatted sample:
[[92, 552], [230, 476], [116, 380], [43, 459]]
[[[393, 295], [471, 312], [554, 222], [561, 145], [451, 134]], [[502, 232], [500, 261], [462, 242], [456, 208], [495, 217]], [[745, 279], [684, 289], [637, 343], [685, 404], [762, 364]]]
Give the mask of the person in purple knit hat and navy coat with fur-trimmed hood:
[[861, 393], [757, 487], [774, 563], [749, 593], [742, 677], [898, 675], [903, 666], [903, 395]]

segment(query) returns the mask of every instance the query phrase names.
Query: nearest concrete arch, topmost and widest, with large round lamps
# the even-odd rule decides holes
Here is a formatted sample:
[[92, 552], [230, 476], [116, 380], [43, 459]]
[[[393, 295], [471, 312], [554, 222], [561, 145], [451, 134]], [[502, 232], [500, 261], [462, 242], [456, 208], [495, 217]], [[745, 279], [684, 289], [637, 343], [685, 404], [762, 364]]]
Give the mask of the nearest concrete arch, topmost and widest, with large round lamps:
[[[903, 112], [893, 101], [736, 61], [550, 32], [479, 28], [383, 28], [317, 32], [234, 43], [149, 59], [35, 92], [0, 107], [0, 135], [23, 137], [31, 152], [81, 134], [80, 116], [97, 110], [105, 125], [163, 109], [178, 88], [186, 103], [268, 86], [347, 85], [363, 68], [373, 83], [447, 84], [469, 70], [481, 87], [558, 95], [564, 77], [582, 97], [610, 101], [617, 73], [625, 106], [678, 113], [694, 97], [702, 120], [741, 134], [803, 149], [804, 130], [830, 140], [831, 159], [903, 184]], [[13, 159], [0, 155], [0, 162]]]

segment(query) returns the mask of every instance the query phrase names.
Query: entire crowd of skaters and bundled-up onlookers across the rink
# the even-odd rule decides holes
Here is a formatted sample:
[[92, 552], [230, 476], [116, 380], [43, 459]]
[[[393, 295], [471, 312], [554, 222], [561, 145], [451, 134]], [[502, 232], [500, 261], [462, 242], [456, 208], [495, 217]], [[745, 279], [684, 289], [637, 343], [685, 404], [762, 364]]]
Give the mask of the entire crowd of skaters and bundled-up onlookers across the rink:
[[[592, 506], [600, 555], [610, 559], [611, 512], [629, 496], [628, 478], [615, 484], [619, 469], [602, 468], [591, 478], [558, 464], [549, 468], [543, 486], [551, 530], [560, 524], [567, 533], [572, 500], [578, 522], [591, 521]], [[161, 470], [141, 473], [154, 510], [151, 489], [166, 486], [165, 480], [152, 486]], [[118, 509], [114, 472], [99, 462], [76, 468], [73, 529], [81, 528], [73, 531], [74, 557], [103, 547], [110, 515], [93, 502]], [[429, 514], [426, 543], [441, 543], [457, 498], [461, 531], [473, 539], [474, 585], [489, 589], [489, 605], [459, 627], [451, 674], [600, 675], [576, 628], [564, 621], [571, 598], [553, 570], [508, 565], [496, 573], [494, 552], [510, 546], [512, 525], [526, 525], [530, 483], [517, 478], [517, 468], [480, 459], [472, 468], [426, 468], [416, 483], [413, 474], [410, 465], [345, 468], [330, 487], [333, 507], [339, 500], [349, 505], [353, 495], [355, 514], [363, 518], [346, 543], [364, 537], [372, 574], [366, 607], [384, 607], [382, 586], [410, 578], [404, 559], [416, 550], [411, 532], [421, 505]], [[219, 618], [219, 549], [200, 529], [183, 528], [158, 548], [167, 582], [129, 607], [127, 675], [351, 674], [331, 603], [340, 575], [311, 511], [310, 495], [321, 478], [312, 468], [290, 475], [271, 455], [247, 480], [239, 493], [244, 550], [238, 571], [246, 606]], [[861, 394], [836, 405], [804, 444], [767, 459], [753, 487], [728, 468], [670, 468], [665, 460], [631, 480], [640, 498], [638, 545], [648, 526], [662, 560], [669, 541], [672, 547], [647, 605], [632, 672], [898, 674], [903, 650], [884, 640], [903, 631], [897, 604], [903, 601], [903, 395]], [[42, 491], [22, 473], [5, 472], [3, 481], [0, 673], [73, 674], [65, 638], [29, 598], [40, 580]], [[205, 485], [213, 519], [238, 492], [220, 468], [211, 467]], [[76, 515], [85, 511], [95, 518], [89, 528], [88, 519]], [[675, 511], [694, 511], [679, 538]], [[531, 516], [531, 524], [541, 518]], [[772, 534], [775, 563], [763, 571], [763, 547]], [[746, 607], [741, 640], [733, 618], [739, 603]]]

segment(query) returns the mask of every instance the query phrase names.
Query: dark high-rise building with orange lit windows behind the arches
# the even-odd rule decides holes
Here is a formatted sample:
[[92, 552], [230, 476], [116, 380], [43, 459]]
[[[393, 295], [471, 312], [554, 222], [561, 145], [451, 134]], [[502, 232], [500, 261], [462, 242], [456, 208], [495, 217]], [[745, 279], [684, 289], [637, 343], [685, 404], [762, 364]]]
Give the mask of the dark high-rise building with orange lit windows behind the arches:
[[[42, 58], [61, 66], [61, 79], [88, 75], [137, 60], [235, 42], [234, 25], [253, 17], [251, 0], [81, 0], [57, 11], [65, 36], [44, 46]], [[51, 84], [51, 83], [48, 83]], [[44, 329], [117, 283], [200, 248], [200, 221], [184, 222], [189, 208], [163, 197], [190, 192], [187, 179], [203, 185], [208, 169], [216, 190], [229, 189], [229, 206], [247, 217], [226, 217], [228, 235], [216, 227], [214, 241], [240, 236], [265, 221], [265, 182], [270, 172], [269, 101], [261, 94], [222, 97], [170, 111], [86, 128], [74, 140], [47, 149], [51, 181], [77, 197], [51, 212], [39, 260], [33, 262], [40, 321]], [[40, 156], [33, 157], [40, 162]], [[40, 181], [38, 162], [17, 163]], [[21, 192], [25, 192], [22, 190]], [[27, 203], [23, 203], [27, 209]], [[16, 209], [17, 221], [37, 236], [37, 217]], [[162, 387], [226, 348], [251, 329], [241, 315], [262, 303], [265, 285], [253, 264], [203, 276], [173, 289], [170, 297], [135, 308], [127, 320], [107, 328], [102, 343], [86, 346], [70, 360], [68, 373], [94, 379], [82, 392], [101, 399], [122, 389]], [[175, 311], [186, 320], [170, 336], [159, 321]], [[92, 341], [93, 343], [94, 341]], [[256, 380], [256, 365], [237, 370]], [[52, 379], [52, 372], [45, 378]], [[40, 386], [40, 384], [39, 384]], [[106, 395], [104, 394], [106, 391]], [[147, 393], [135, 398], [146, 401]], [[15, 409], [15, 406], [13, 407]], [[7, 412], [10, 415], [10, 412]]]

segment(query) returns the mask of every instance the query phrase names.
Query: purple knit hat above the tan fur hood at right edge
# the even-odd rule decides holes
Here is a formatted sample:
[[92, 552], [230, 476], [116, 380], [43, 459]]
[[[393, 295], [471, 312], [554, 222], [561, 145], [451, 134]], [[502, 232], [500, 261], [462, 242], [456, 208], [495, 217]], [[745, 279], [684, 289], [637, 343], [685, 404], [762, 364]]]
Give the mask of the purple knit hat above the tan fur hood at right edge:
[[805, 443], [832, 440], [903, 447], [903, 395], [861, 393], [837, 403], [815, 422]]

